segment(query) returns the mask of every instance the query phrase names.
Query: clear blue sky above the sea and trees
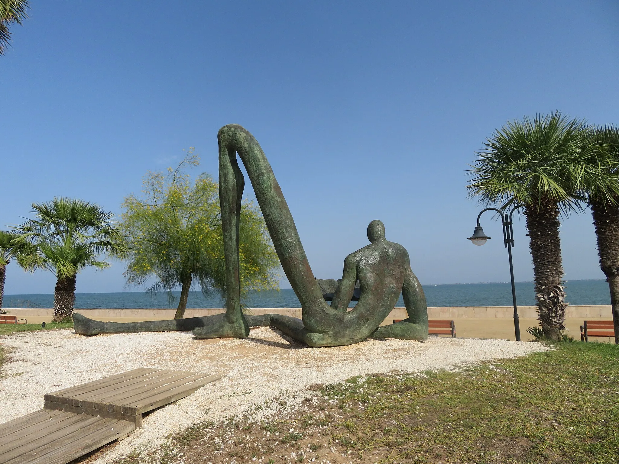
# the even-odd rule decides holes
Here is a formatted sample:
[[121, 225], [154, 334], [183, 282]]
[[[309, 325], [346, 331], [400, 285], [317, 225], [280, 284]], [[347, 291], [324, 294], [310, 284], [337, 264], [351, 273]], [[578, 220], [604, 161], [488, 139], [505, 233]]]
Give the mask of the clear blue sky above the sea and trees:
[[[465, 240], [481, 208], [465, 171], [508, 119], [618, 124], [618, 24], [612, 0], [32, 2], [0, 57], [0, 226], [56, 195], [120, 213], [188, 147], [216, 178], [217, 130], [236, 122], [271, 161], [316, 277], [340, 277], [378, 218], [422, 283], [506, 281], [501, 241]], [[514, 232], [530, 280], [523, 220]], [[566, 279], [603, 278], [589, 213], [561, 239]], [[77, 290], [123, 291], [123, 270], [85, 271]], [[7, 268], [6, 293], [53, 286]]]

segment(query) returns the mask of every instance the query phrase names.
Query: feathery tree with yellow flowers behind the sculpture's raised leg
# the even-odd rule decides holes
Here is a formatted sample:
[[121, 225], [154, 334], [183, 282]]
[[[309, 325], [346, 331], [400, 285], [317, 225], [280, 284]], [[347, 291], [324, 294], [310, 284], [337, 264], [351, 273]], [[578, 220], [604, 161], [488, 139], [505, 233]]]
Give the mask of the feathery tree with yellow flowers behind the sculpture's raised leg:
[[[129, 285], [157, 282], [147, 291], [181, 288], [175, 319], [184, 315], [191, 284], [202, 293], [225, 295], [225, 260], [218, 186], [206, 173], [191, 181], [185, 168], [199, 165], [190, 148], [167, 173], [149, 172], [141, 198], [125, 197], [121, 227], [130, 250], [125, 277]], [[244, 202], [240, 218], [241, 290], [277, 288], [279, 259], [264, 219], [251, 202]]]

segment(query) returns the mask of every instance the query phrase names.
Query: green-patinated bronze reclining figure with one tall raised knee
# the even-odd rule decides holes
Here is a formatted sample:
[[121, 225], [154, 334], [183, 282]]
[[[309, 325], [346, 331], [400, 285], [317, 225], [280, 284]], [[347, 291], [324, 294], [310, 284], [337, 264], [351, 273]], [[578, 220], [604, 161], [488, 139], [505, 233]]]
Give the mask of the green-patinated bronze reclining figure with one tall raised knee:
[[[309, 346], [351, 345], [366, 338], [425, 340], [428, 337], [428, 312], [422, 286], [410, 269], [409, 254], [401, 245], [387, 241], [381, 221], [374, 220], [368, 225], [370, 244], [344, 260], [342, 280], [329, 306], [309, 267], [290, 209], [262, 148], [238, 124], [222, 127], [217, 136], [226, 311], [214, 316], [128, 323], [101, 322], [74, 313], [76, 333], [193, 330], [197, 338], [245, 338], [249, 327], [270, 325]], [[301, 303], [302, 320], [281, 314], [251, 316], [241, 311], [238, 236], [245, 179], [237, 153], [254, 187], [284, 273]], [[348, 311], [357, 280], [361, 294], [357, 305]], [[409, 317], [380, 326], [400, 293]]]

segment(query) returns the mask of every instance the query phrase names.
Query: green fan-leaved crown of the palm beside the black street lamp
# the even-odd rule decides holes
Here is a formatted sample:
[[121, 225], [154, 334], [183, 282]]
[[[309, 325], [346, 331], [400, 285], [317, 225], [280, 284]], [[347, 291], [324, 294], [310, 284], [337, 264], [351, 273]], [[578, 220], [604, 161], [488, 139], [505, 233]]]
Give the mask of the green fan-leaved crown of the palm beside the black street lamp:
[[590, 161], [600, 146], [583, 127], [584, 121], [559, 111], [509, 121], [477, 153], [469, 197], [505, 205], [550, 201], [564, 213], [578, 210], [582, 186], [598, 172]]

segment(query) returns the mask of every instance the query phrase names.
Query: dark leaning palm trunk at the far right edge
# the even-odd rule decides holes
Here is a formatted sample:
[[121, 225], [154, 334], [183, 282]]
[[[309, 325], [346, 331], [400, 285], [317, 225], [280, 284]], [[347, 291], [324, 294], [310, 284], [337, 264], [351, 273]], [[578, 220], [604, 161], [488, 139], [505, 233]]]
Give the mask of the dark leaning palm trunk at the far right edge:
[[619, 343], [619, 208], [606, 202], [591, 202], [597, 235], [600, 267], [610, 290], [610, 304], [615, 326], [615, 343]]

